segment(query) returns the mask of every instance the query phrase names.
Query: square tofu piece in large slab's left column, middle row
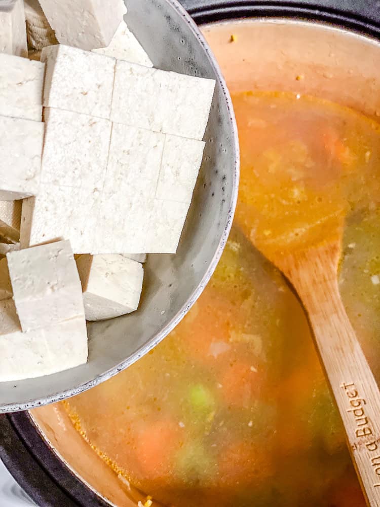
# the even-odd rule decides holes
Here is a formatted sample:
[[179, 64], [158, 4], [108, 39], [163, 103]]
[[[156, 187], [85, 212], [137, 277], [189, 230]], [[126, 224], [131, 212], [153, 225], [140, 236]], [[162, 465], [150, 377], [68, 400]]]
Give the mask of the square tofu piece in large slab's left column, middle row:
[[111, 122], [45, 108], [45, 141], [41, 182], [77, 188], [104, 184]]

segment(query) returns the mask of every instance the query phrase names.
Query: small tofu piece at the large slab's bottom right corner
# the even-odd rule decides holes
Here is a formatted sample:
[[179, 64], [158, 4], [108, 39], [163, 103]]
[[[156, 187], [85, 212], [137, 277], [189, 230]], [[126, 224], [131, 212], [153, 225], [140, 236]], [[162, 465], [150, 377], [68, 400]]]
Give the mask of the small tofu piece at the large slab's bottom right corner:
[[188, 203], [155, 199], [150, 210], [145, 251], [175, 253], [186, 220]]

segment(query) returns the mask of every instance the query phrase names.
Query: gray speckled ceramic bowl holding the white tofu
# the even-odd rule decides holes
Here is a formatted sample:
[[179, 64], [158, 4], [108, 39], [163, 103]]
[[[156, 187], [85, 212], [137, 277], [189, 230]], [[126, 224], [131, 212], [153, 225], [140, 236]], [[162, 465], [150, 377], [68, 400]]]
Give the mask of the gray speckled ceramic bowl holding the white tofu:
[[192, 19], [176, 0], [127, 0], [126, 20], [156, 67], [216, 79], [206, 149], [176, 255], [151, 255], [137, 312], [91, 323], [89, 360], [66, 372], [0, 383], [0, 412], [78, 394], [116, 375], [155, 347], [201, 294], [220, 258], [235, 211], [239, 145], [229, 92]]

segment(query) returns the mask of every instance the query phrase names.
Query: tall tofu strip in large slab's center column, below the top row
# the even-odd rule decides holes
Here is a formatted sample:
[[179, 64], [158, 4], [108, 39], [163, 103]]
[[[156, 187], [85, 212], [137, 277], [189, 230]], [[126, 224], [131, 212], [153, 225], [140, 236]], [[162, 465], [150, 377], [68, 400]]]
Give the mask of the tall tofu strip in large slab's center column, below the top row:
[[113, 124], [93, 253], [144, 252], [165, 136]]

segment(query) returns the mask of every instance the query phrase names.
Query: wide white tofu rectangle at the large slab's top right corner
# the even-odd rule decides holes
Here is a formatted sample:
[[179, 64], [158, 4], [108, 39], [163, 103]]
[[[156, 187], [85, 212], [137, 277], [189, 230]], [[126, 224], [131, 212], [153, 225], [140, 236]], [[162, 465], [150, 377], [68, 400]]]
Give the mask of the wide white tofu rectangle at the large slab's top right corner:
[[215, 81], [117, 60], [111, 121], [201, 140]]

